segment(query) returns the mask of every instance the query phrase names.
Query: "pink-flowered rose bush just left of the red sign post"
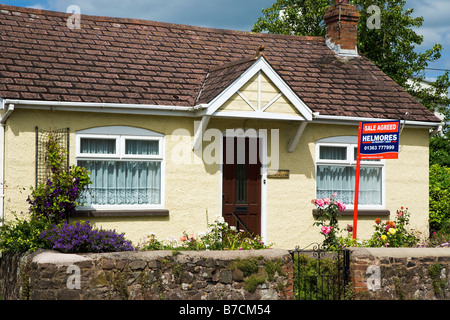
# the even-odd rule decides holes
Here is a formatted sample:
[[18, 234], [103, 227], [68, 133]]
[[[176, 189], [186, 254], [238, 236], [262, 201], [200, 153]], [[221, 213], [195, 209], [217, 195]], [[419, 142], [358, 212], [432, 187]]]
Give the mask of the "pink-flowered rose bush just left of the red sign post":
[[[345, 205], [336, 199], [336, 193], [331, 198], [314, 199], [311, 202], [316, 206], [318, 212], [315, 226], [319, 226], [320, 233], [325, 237], [322, 246], [327, 250], [337, 250], [341, 248], [339, 241], [338, 217], [339, 212], [345, 210]], [[328, 223], [327, 223], [328, 221]]]

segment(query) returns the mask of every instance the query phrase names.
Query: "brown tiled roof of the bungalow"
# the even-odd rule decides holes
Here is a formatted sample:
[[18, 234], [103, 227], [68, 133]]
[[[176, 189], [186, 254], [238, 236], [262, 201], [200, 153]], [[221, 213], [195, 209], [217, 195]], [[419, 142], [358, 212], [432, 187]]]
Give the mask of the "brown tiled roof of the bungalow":
[[241, 59], [263, 45], [313, 112], [439, 121], [367, 58], [338, 57], [321, 37], [85, 15], [71, 30], [69, 15], [0, 5], [1, 98], [194, 106], [238, 77], [250, 64]]

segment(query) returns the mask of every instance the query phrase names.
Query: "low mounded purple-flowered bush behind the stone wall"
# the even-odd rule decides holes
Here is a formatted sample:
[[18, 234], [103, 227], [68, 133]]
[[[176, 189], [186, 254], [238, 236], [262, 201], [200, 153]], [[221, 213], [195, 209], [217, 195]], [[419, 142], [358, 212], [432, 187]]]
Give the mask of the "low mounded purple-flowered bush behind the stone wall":
[[115, 230], [94, 229], [88, 222], [64, 222], [44, 230], [46, 246], [66, 253], [132, 251], [133, 245]]

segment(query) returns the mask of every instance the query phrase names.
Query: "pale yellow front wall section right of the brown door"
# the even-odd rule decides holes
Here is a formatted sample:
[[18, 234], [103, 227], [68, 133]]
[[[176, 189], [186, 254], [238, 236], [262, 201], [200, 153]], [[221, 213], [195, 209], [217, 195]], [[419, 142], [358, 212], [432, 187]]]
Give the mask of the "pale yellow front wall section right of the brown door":
[[[293, 133], [291, 132], [291, 135]], [[268, 238], [282, 247], [301, 247], [321, 242], [317, 227], [312, 227], [314, 218], [310, 201], [315, 197], [315, 142], [320, 139], [358, 134], [357, 126], [333, 126], [309, 124], [294, 153], [283, 148], [289, 134], [281, 142], [280, 169], [290, 169], [289, 180], [268, 180]], [[400, 136], [399, 159], [386, 160], [386, 209], [395, 219], [401, 206], [411, 212], [411, 228], [428, 235], [428, 130], [404, 129]], [[377, 216], [360, 216], [358, 238], [368, 239], [374, 231]], [[353, 224], [352, 216], [340, 219], [340, 227]], [[298, 240], [300, 239], [300, 240]]]

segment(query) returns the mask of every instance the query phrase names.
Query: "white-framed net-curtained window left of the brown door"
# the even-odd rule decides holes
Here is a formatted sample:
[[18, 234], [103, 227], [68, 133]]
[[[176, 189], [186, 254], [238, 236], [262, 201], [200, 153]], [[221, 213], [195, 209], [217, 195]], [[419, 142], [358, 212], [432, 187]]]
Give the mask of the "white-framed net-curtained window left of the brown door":
[[131, 127], [77, 132], [77, 165], [90, 171], [88, 209], [162, 208], [163, 136]]

